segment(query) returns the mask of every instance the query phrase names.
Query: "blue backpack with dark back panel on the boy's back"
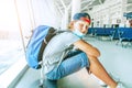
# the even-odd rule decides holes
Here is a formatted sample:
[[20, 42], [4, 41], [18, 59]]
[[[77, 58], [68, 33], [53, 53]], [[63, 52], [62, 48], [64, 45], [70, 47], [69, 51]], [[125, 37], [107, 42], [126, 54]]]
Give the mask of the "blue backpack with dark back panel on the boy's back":
[[41, 68], [43, 52], [50, 42], [58, 32], [51, 26], [40, 25], [34, 31], [29, 41], [25, 51], [28, 65], [34, 69]]

